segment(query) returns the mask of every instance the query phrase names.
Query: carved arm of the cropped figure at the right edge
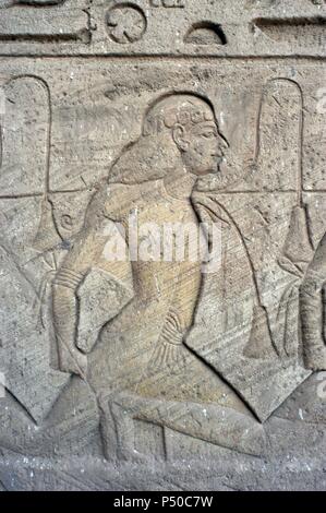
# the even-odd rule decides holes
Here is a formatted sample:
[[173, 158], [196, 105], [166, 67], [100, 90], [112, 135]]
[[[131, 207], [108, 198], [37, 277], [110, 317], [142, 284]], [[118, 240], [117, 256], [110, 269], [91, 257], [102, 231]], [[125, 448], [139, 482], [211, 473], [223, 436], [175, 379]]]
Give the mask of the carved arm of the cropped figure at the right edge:
[[300, 290], [303, 355], [305, 366], [326, 370], [325, 339], [326, 234], [306, 272]]

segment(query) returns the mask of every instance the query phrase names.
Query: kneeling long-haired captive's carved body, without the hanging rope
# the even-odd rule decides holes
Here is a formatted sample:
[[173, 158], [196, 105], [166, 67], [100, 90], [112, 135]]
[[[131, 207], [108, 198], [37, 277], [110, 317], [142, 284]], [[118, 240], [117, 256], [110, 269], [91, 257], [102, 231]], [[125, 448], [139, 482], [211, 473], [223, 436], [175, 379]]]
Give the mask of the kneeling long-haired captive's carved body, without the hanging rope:
[[[212, 403], [209, 415], [217, 422], [217, 433], [212, 441], [218, 440], [226, 445], [231, 444], [232, 433], [226, 436], [224, 428], [218, 427], [221, 395], [238, 410], [237, 429], [240, 429], [242, 418], [245, 429], [247, 422], [252, 422], [251, 414], [231, 389], [228, 390], [185, 343], [201, 294], [198, 258], [190, 262], [180, 262], [176, 256], [168, 262], [156, 261], [150, 254], [148, 235], [147, 240], [143, 235], [143, 249], [144, 244], [148, 246], [145, 260], [142, 255], [140, 259], [133, 256], [131, 269], [129, 262], [121, 264], [106, 260], [106, 247], [111, 236], [108, 220], [120, 223], [126, 230], [130, 216], [136, 212], [134, 230], [149, 222], [159, 228], [166, 224], [200, 226], [191, 203], [192, 191], [198, 176], [218, 170], [225, 146], [227, 143], [218, 131], [214, 109], [207, 100], [186, 94], [159, 98], [145, 115], [140, 140], [122, 154], [113, 165], [108, 184], [100, 184], [99, 192], [93, 198], [84, 229], [56, 277], [53, 319], [59, 368], [81, 375], [99, 397], [107, 446], [110, 443], [108, 417], [112, 415], [112, 403], [119, 405], [119, 397], [123, 399], [120, 408], [125, 409], [129, 404], [131, 416], [159, 422], [162, 427], [174, 427], [189, 434], [201, 433], [195, 429], [194, 420], [195, 411], [201, 409], [198, 404]], [[129, 232], [129, 246], [131, 237], [132, 232]], [[174, 254], [178, 248], [170, 250]], [[85, 288], [81, 284], [86, 283], [85, 276], [86, 281], [93, 282], [86, 287], [88, 298], [99, 286], [106, 288], [105, 283], [109, 287], [112, 276], [122, 279], [130, 290], [129, 298], [120, 299], [120, 306], [128, 302], [120, 313], [114, 308], [114, 313], [111, 311], [112, 303], [110, 307], [107, 301], [102, 305], [101, 323], [96, 326], [90, 320], [93, 329], [88, 339], [82, 336], [79, 327], [83, 317], [79, 306], [83, 303]], [[101, 301], [104, 299], [105, 296]], [[113, 319], [105, 322], [109, 317]], [[171, 414], [180, 402], [188, 404], [183, 422]], [[154, 406], [150, 407], [152, 403]], [[120, 422], [117, 415], [119, 418], [116, 413], [114, 422]], [[237, 413], [233, 415], [237, 418]], [[166, 419], [161, 420], [164, 417]], [[125, 419], [125, 415], [121, 418]], [[257, 426], [252, 427], [255, 433], [257, 429], [259, 431]], [[124, 428], [117, 429], [126, 437]], [[113, 428], [111, 432], [114, 432]], [[208, 440], [208, 432], [206, 426], [201, 437]], [[247, 437], [239, 443], [243, 450], [250, 450]]]

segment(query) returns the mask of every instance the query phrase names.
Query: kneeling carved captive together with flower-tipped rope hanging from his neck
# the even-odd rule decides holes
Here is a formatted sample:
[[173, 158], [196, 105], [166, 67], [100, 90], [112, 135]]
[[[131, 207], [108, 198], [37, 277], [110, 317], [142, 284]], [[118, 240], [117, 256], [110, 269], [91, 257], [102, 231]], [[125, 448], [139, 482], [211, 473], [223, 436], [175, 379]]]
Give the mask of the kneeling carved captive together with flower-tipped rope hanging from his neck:
[[[266, 313], [238, 229], [226, 208], [196, 188], [200, 177], [219, 171], [227, 145], [209, 100], [177, 93], [158, 98], [145, 114], [138, 140], [126, 146], [109, 179], [98, 184], [84, 227], [52, 284], [59, 368], [82, 377], [93, 390], [107, 457], [132, 445], [133, 420], [228, 448], [236, 443], [250, 453], [264, 438], [241, 395], [210, 365], [210, 353], [217, 347], [210, 348], [209, 333], [207, 339], [201, 338], [201, 347], [191, 339], [201, 314], [201, 294], [212, 286], [218, 289], [220, 334], [231, 330], [226, 305], [242, 308], [249, 324], [243, 349], [252, 344], [255, 358], [274, 357]], [[209, 223], [208, 231], [201, 222]], [[166, 234], [167, 226], [184, 229], [183, 258], [178, 235], [168, 237], [168, 244], [150, 243]], [[186, 236], [188, 227], [197, 228], [203, 247]], [[217, 247], [216, 227], [221, 232]], [[210, 276], [203, 272], [207, 272], [203, 265], [207, 253], [213, 255]], [[236, 291], [234, 265], [240, 269], [238, 284], [249, 299], [245, 305]], [[130, 288], [119, 311], [107, 294], [112, 283]], [[98, 301], [88, 301], [83, 311], [93, 296]], [[205, 346], [208, 354], [203, 354]], [[226, 411], [232, 429], [225, 422]]]

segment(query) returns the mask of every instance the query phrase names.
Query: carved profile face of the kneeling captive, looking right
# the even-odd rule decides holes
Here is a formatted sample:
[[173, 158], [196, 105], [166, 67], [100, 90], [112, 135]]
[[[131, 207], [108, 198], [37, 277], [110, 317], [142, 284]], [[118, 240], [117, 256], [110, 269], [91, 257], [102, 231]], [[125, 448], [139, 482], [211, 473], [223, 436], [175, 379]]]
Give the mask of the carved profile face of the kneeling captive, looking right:
[[226, 143], [214, 121], [190, 127], [184, 134], [188, 142], [183, 158], [190, 172], [204, 176], [218, 172]]

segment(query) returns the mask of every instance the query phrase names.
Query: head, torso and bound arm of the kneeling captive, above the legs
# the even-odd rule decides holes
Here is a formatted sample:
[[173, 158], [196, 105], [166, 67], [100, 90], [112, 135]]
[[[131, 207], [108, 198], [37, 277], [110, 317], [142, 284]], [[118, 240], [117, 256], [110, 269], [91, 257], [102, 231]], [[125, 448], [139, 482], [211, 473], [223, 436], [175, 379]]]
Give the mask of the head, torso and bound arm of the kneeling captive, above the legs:
[[[166, 375], [165, 370], [180, 366], [186, 354], [193, 357], [183, 343], [194, 320], [203, 262], [200, 258], [180, 261], [176, 248], [170, 261], [113, 262], [107, 258], [108, 224], [119, 224], [120, 231], [124, 228], [129, 248], [128, 225], [135, 213], [137, 226], [148, 222], [156, 227], [200, 226], [192, 193], [198, 177], [218, 171], [226, 145], [206, 99], [172, 94], [149, 107], [141, 138], [113, 165], [109, 180], [99, 184], [84, 228], [53, 283], [62, 371], [87, 377], [97, 391], [143, 393], [144, 386], [148, 392], [146, 377]], [[81, 339], [77, 294], [85, 276], [96, 269], [104, 282], [112, 275], [123, 279], [130, 266], [132, 300], [88, 341]]]

